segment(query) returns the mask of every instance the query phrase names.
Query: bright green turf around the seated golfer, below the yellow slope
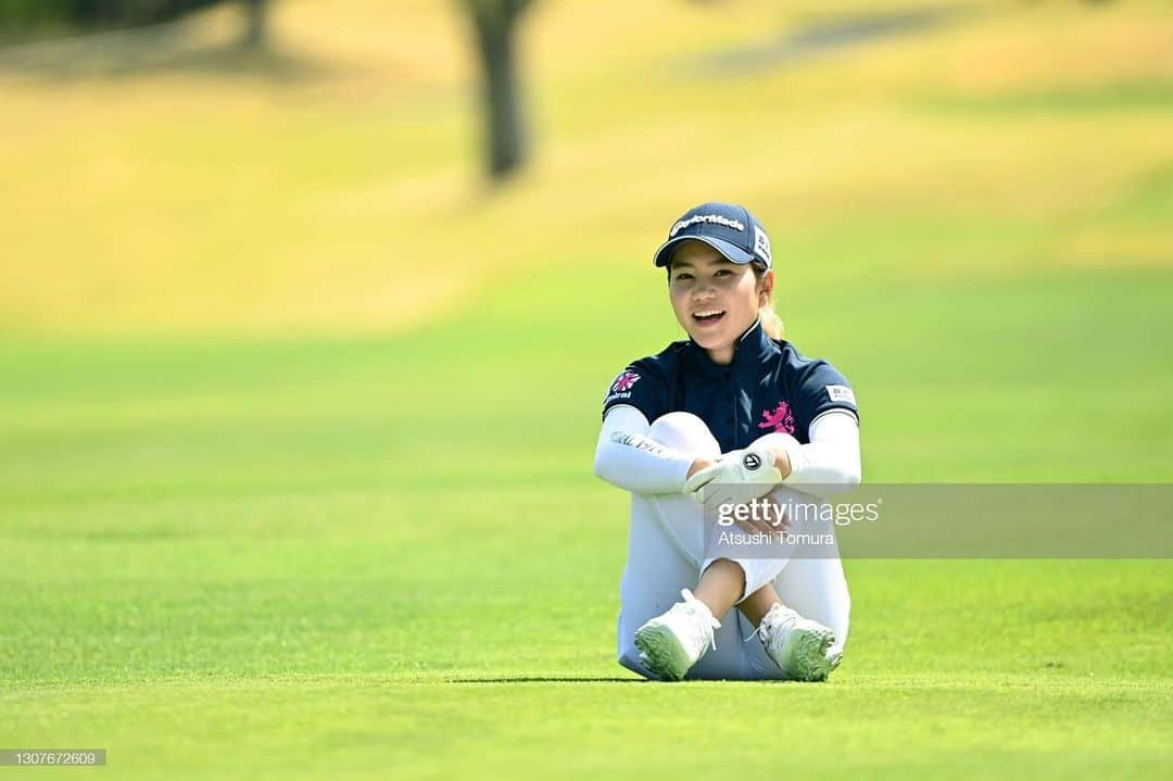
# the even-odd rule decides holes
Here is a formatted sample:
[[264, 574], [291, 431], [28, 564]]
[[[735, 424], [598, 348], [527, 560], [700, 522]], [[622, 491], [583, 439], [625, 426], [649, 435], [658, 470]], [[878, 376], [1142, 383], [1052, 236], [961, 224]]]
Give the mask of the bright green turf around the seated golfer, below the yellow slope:
[[[540, 328], [501, 293], [401, 338], [9, 340], [5, 741], [106, 747], [142, 776], [1168, 770], [1167, 562], [849, 561], [830, 685], [618, 667], [625, 501], [590, 457], [611, 372], [671, 338], [649, 287]], [[861, 388], [869, 476], [1162, 480], [1173, 367], [1127, 334], [1173, 335], [1171, 288], [854, 291], [876, 349], [834, 311], [792, 322]], [[914, 306], [923, 324], [884, 317]], [[1111, 460], [1079, 449], [1090, 432]]]

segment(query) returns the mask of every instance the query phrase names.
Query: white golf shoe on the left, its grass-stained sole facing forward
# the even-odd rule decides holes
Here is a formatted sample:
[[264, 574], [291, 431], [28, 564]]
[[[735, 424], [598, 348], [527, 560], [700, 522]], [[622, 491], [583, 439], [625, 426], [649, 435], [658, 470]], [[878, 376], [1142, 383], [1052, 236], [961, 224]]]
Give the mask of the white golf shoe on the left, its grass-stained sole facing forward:
[[717, 647], [713, 630], [721, 623], [687, 589], [680, 589], [680, 596], [684, 602], [636, 631], [639, 659], [660, 680], [680, 680], [710, 646]]

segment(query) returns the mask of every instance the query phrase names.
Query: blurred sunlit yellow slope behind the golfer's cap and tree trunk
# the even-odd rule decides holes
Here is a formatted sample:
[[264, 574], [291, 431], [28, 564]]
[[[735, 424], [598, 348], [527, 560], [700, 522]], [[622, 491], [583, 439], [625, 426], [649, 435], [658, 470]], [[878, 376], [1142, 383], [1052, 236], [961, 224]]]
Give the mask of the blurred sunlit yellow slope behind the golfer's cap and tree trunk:
[[228, 8], [165, 41], [0, 52], [0, 327], [405, 328], [533, 264], [644, 264], [713, 197], [782, 237], [1026, 225], [1015, 252], [930, 249], [888, 276], [1173, 267], [1168, 226], [1101, 215], [1173, 165], [1173, 9], [970, 4], [769, 60], [889, 5], [538, 0], [535, 157], [499, 190], [456, 2], [284, 0], [259, 55]]

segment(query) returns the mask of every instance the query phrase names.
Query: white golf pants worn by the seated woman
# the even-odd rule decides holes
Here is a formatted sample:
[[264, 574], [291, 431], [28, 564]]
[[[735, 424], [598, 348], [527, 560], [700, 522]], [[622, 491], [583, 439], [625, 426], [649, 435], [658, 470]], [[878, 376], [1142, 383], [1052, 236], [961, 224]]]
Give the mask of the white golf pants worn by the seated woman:
[[[656, 419], [649, 436], [665, 447], [698, 457], [717, 457], [720, 446], [708, 427], [690, 413], [669, 413]], [[774, 491], [784, 503], [791, 489]], [[811, 501], [811, 497], [805, 497]], [[818, 531], [834, 534], [827, 522]], [[842, 651], [847, 640], [852, 600], [847, 592], [843, 565], [835, 548], [829, 558], [732, 558], [745, 571], [743, 598], [773, 583], [779, 598], [805, 618], [835, 632], [833, 651]], [[704, 558], [703, 508], [683, 494], [631, 495], [631, 534], [628, 564], [621, 585], [618, 626], [619, 664], [650, 677], [639, 661], [635, 633], [647, 619], [659, 616], [680, 600], [680, 589], [694, 589], [700, 573], [712, 563]], [[757, 637], [748, 637], [753, 625], [737, 607], [718, 616], [717, 648], [710, 650], [689, 672], [689, 678], [758, 680], [781, 678], [781, 670], [766, 656]]]

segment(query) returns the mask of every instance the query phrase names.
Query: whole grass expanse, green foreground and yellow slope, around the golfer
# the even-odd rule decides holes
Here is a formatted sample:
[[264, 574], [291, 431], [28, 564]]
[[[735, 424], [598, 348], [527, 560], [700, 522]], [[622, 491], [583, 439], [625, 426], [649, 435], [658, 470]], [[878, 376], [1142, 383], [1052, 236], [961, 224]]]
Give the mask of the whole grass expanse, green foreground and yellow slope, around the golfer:
[[[713, 55], [830, 6], [538, 4], [538, 156], [483, 197], [434, 5], [279, 4], [292, 81], [0, 56], [0, 748], [117, 777], [1173, 774], [1168, 561], [849, 559], [828, 685], [645, 684], [613, 653], [626, 497], [590, 474], [606, 382], [679, 337], [650, 253], [720, 195], [852, 379], [866, 480], [1169, 482], [1167, 6], [977, 4], [731, 83]], [[761, 120], [690, 113], [701, 87]]]

